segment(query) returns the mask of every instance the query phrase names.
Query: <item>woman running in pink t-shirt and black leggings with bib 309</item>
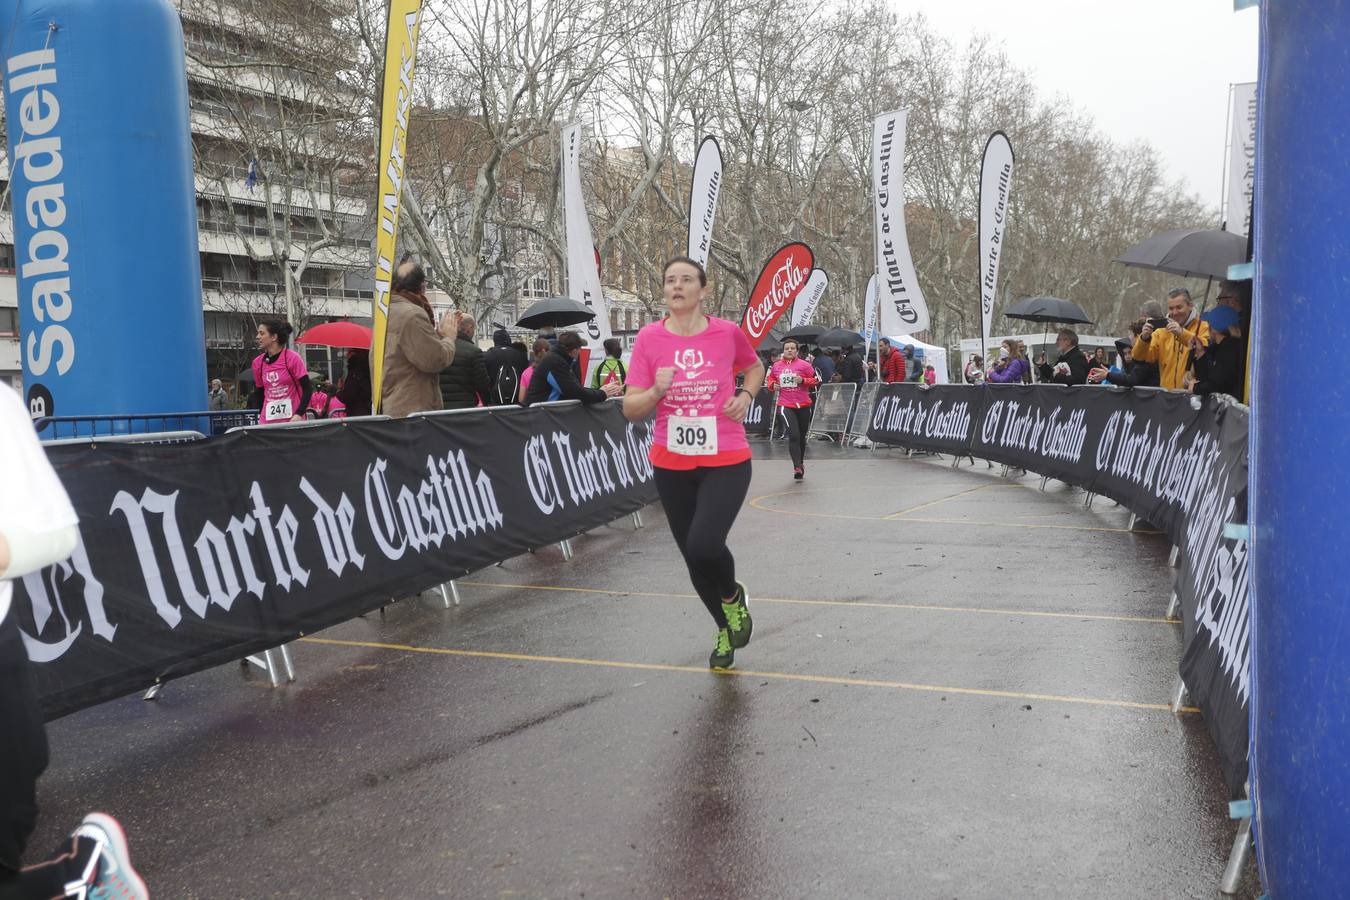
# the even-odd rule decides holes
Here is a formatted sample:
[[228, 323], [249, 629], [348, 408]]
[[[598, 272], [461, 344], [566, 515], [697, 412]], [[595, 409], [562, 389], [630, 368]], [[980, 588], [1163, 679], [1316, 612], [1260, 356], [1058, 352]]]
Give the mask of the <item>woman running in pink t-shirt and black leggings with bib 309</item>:
[[663, 291], [670, 316], [637, 333], [624, 416], [637, 421], [656, 412], [656, 490], [694, 590], [717, 623], [707, 664], [729, 669], [751, 641], [749, 598], [726, 536], [751, 487], [742, 422], [764, 383], [764, 363], [736, 324], [703, 314], [709, 287], [701, 264], [671, 259]]

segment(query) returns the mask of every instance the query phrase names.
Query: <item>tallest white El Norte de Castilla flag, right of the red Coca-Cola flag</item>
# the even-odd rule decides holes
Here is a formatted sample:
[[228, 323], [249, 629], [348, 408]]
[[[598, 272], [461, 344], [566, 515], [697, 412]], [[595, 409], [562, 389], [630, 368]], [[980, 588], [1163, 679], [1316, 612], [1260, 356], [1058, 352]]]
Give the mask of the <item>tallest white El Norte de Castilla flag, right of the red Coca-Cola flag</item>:
[[876, 301], [883, 335], [913, 335], [929, 327], [905, 228], [905, 117], [899, 109], [872, 123]]

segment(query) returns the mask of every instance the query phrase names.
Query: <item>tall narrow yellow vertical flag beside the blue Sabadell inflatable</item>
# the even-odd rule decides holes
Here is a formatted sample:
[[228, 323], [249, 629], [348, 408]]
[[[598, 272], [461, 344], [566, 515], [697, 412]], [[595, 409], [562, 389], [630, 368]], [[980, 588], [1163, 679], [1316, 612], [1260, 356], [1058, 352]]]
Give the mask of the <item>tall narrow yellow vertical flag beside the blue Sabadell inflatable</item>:
[[421, 0], [390, 0], [385, 31], [383, 104], [379, 111], [379, 208], [375, 210], [375, 309], [370, 341], [371, 412], [379, 412], [385, 389], [385, 333], [389, 328], [389, 285], [394, 275], [398, 244], [398, 202], [402, 194], [408, 116], [413, 108], [413, 65]]

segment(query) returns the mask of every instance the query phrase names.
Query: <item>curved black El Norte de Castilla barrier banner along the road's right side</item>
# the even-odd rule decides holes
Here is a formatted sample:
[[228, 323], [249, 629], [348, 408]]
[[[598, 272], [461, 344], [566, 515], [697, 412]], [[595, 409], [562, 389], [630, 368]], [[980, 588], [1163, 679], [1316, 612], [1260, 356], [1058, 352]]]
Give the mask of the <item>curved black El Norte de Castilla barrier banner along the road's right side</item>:
[[[1180, 548], [1181, 677], [1237, 796], [1247, 775], [1247, 412], [1228, 397], [1057, 385], [883, 385], [868, 437], [1006, 463], [1118, 501]], [[1161, 602], [1161, 599], [1160, 599]]]

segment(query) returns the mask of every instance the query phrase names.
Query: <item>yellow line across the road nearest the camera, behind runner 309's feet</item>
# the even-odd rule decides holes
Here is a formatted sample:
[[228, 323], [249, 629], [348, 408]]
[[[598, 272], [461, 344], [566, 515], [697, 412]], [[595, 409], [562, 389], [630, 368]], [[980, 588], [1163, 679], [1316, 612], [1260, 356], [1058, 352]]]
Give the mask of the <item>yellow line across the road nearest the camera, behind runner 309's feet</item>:
[[[848, 687], [890, 688], [894, 691], [923, 691], [927, 694], [956, 694], [964, 696], [991, 696], [1006, 700], [1044, 700], [1046, 703], [1075, 703], [1080, 706], [1106, 706], [1122, 710], [1149, 710], [1157, 712], [1170, 712], [1166, 703], [1138, 703], [1134, 700], [1110, 700], [1089, 696], [1061, 696], [1056, 694], [1026, 694], [1021, 691], [992, 691], [984, 688], [954, 688], [938, 684], [913, 684], [909, 681], [886, 681], [879, 679], [845, 679], [829, 675], [796, 675], [791, 672], [759, 672], [752, 669], [720, 669], [710, 671], [697, 665], [672, 665], [668, 663], [625, 663], [621, 660], [586, 660], [570, 656], [539, 656], [533, 653], [505, 653], [500, 650], [455, 650], [439, 646], [413, 646], [410, 644], [383, 644], [379, 641], [343, 641], [323, 637], [302, 637], [301, 641], [309, 644], [328, 644], [332, 646], [358, 646], [373, 650], [401, 650], [404, 653], [431, 653], [436, 656], [458, 656], [478, 660], [509, 660], [514, 663], [555, 663], [559, 665], [590, 665], [608, 669], [640, 669], [644, 672], [693, 672], [695, 675], [722, 675], [742, 679], [772, 679], [779, 681], [802, 681], [807, 684], [841, 684]], [[1181, 712], [1192, 714], [1200, 710], [1195, 707], [1181, 707]]]

